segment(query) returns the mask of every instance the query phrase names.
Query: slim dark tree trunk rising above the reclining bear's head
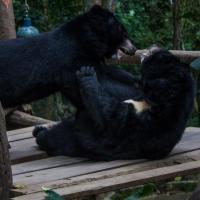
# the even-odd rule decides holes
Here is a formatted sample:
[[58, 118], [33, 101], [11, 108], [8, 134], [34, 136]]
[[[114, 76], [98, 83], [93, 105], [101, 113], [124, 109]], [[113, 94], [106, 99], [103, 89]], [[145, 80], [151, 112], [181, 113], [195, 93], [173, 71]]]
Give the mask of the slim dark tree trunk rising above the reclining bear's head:
[[180, 12], [180, 0], [172, 1], [172, 14], [173, 14], [173, 49], [181, 49], [181, 19]]

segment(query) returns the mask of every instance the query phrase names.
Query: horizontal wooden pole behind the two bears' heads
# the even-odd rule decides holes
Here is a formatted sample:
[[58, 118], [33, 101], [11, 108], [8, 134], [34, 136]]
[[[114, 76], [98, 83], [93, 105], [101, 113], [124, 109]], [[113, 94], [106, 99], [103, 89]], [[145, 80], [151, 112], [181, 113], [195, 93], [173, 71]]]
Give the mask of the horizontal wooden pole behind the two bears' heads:
[[[127, 56], [123, 54], [120, 60], [108, 60], [110, 64], [140, 64], [140, 54], [145, 53], [147, 50], [137, 50], [134, 56]], [[175, 56], [179, 57], [181, 61], [186, 63], [191, 63], [193, 60], [200, 57], [200, 51], [180, 51], [180, 50], [170, 50]]]

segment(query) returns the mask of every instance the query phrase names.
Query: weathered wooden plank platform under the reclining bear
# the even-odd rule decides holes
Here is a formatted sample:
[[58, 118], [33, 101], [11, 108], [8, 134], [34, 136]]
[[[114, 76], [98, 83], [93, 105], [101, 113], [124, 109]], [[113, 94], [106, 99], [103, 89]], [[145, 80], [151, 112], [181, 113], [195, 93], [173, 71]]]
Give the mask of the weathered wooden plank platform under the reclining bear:
[[31, 131], [32, 128], [25, 128], [8, 132], [16, 187], [12, 190], [13, 200], [43, 200], [43, 186], [71, 199], [200, 172], [199, 128], [188, 128], [164, 160], [112, 162], [47, 157], [38, 150]]

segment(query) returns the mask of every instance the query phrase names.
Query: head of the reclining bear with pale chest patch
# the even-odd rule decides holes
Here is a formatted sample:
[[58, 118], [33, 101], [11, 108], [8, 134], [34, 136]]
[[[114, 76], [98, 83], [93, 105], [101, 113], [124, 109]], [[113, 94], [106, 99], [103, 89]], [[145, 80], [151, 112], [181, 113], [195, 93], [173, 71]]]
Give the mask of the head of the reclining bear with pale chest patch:
[[190, 66], [159, 47], [148, 49], [142, 59], [141, 74], [146, 99], [157, 105], [175, 97], [184, 98], [193, 90]]

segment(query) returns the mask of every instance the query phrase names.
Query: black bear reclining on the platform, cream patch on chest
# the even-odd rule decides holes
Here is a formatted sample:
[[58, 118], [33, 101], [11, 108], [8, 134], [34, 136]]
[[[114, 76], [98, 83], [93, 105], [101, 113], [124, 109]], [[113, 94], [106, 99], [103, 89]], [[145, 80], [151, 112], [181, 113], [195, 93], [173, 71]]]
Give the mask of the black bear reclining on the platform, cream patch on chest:
[[94, 160], [160, 159], [181, 139], [194, 102], [189, 65], [153, 48], [141, 66], [142, 97], [111, 96], [94, 68], [77, 72], [84, 110], [47, 129], [36, 127], [39, 147], [51, 155]]

